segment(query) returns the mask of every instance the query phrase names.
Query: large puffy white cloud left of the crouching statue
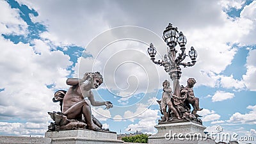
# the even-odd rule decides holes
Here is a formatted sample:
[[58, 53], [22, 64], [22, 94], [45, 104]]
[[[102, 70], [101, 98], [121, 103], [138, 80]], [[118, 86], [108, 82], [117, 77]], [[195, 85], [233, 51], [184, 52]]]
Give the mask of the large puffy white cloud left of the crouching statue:
[[[1, 116], [11, 119], [17, 116], [28, 122], [45, 122], [49, 120], [47, 111], [60, 109], [52, 102], [53, 93], [47, 85], [54, 84], [54, 88], [67, 88], [65, 77], [68, 72], [65, 68], [70, 65], [69, 56], [61, 51], [45, 51], [35, 54], [33, 47], [28, 44], [13, 44], [0, 37], [3, 52], [0, 87]], [[42, 45], [36, 44], [35, 47]], [[8, 97], [8, 99], [7, 99]], [[26, 101], [26, 102], [25, 102]], [[12, 109], [12, 111], [10, 111]]]

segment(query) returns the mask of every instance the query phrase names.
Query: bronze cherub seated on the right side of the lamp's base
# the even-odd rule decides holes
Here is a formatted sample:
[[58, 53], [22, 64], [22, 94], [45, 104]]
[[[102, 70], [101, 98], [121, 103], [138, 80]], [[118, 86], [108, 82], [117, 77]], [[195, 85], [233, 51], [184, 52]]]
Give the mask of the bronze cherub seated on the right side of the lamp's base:
[[199, 98], [195, 97], [193, 86], [196, 84], [196, 80], [194, 78], [189, 78], [187, 81], [188, 85], [185, 88], [180, 88], [181, 94], [187, 97], [189, 104], [193, 106], [192, 114], [196, 115], [197, 111], [202, 111], [202, 108], [199, 108]]

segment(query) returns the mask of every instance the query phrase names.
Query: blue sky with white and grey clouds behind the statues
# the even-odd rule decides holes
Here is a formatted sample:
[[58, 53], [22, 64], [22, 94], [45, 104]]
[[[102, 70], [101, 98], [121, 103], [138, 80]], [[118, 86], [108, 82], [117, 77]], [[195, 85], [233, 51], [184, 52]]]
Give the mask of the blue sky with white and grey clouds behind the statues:
[[54, 92], [68, 90], [68, 77], [97, 71], [104, 83], [93, 90], [95, 99], [114, 105], [92, 107], [104, 127], [156, 133], [156, 99], [171, 79], [147, 48], [152, 42], [156, 60], [163, 58], [163, 31], [172, 22], [188, 39], [186, 52], [198, 52], [195, 66], [182, 67], [180, 84], [196, 79], [205, 131], [220, 125], [256, 140], [256, 1], [0, 3], [1, 135], [44, 136], [52, 122], [47, 111], [60, 109]]

